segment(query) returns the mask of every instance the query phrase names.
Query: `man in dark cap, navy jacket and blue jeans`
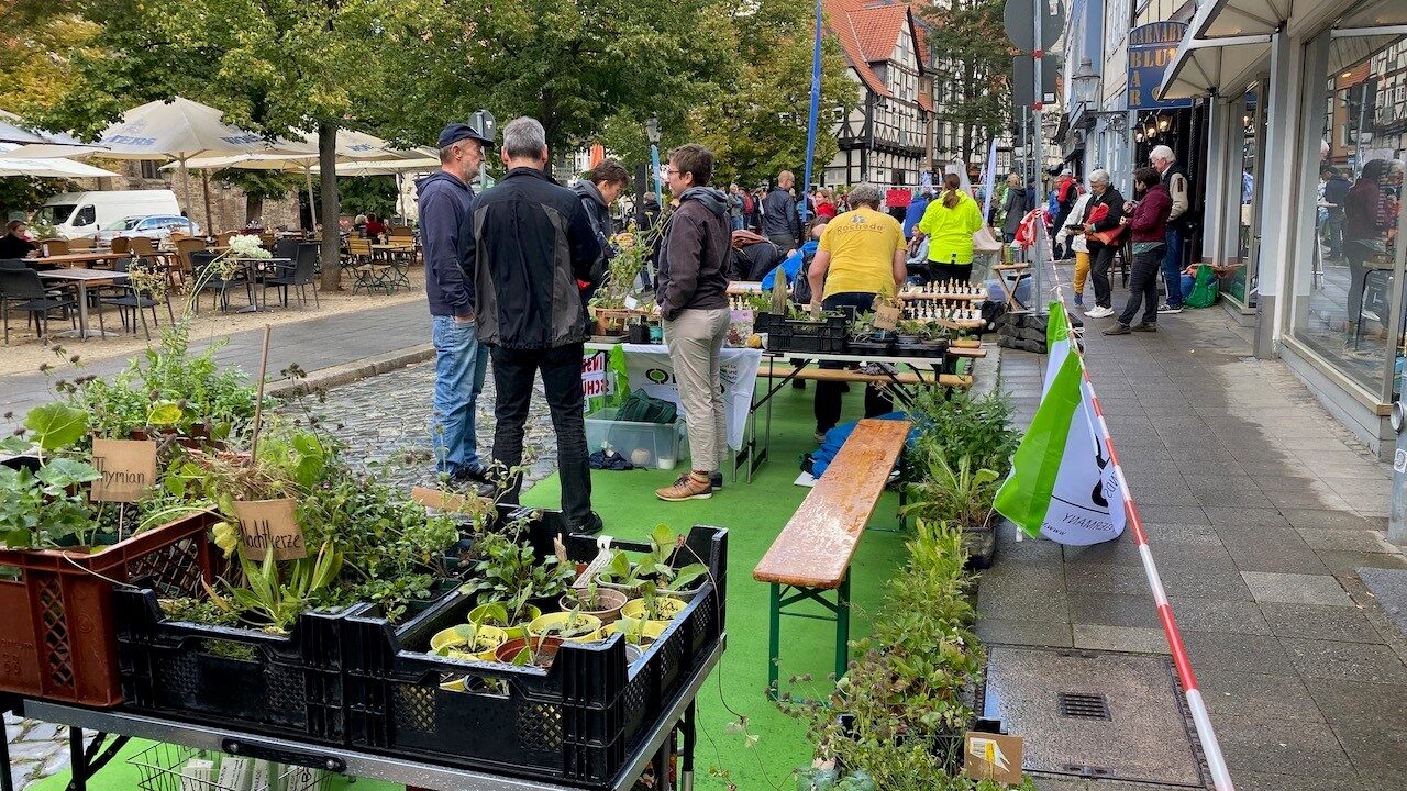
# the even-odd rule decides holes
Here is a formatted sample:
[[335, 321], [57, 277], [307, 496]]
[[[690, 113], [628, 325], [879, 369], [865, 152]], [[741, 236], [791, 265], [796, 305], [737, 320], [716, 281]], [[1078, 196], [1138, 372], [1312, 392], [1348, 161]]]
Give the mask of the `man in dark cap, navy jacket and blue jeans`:
[[492, 145], [469, 124], [450, 124], [439, 137], [440, 170], [415, 184], [419, 196], [425, 294], [435, 343], [435, 401], [431, 443], [436, 469], [452, 483], [485, 483], [474, 445], [474, 404], [484, 388], [488, 353], [474, 328], [474, 283], [464, 265], [473, 245], [470, 182]]

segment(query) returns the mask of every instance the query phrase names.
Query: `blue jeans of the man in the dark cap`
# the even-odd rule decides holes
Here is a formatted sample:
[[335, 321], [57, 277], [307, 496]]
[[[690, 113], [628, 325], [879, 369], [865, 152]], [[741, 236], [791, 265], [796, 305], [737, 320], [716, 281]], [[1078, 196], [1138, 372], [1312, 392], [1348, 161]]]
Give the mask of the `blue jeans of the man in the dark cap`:
[[431, 317], [435, 345], [435, 403], [431, 411], [431, 445], [435, 467], [456, 474], [478, 469], [474, 442], [474, 405], [484, 390], [488, 350], [478, 342], [474, 322], [450, 315]]

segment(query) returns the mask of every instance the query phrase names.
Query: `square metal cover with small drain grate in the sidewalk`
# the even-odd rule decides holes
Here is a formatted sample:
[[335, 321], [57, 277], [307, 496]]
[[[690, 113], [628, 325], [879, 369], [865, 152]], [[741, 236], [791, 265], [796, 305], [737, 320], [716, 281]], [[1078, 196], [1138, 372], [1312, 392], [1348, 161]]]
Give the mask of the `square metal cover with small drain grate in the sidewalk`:
[[992, 645], [982, 715], [1024, 739], [1027, 771], [1207, 787], [1166, 656]]

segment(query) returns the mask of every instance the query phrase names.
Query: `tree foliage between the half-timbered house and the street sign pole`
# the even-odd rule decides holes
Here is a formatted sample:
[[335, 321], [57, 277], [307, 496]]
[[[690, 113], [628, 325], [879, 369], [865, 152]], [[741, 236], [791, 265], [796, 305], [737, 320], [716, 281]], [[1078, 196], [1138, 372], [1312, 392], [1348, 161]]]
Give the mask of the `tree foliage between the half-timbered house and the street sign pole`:
[[933, 82], [941, 86], [934, 107], [938, 122], [958, 131], [962, 162], [985, 151], [986, 141], [1009, 127], [1012, 91], [1006, 73], [1012, 48], [1002, 11], [1005, 0], [944, 0], [915, 6], [929, 23]]

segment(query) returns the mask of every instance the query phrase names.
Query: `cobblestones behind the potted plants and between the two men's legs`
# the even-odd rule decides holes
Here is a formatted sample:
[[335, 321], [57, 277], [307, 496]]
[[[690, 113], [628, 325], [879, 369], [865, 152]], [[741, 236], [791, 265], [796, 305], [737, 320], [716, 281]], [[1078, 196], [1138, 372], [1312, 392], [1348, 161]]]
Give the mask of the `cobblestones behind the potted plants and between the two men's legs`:
[[[304, 419], [311, 414], [325, 426], [340, 425], [336, 435], [348, 442], [352, 459], [367, 472], [409, 488], [435, 480], [429, 434], [433, 390], [435, 365], [419, 363], [336, 387], [322, 401], [308, 396], [281, 412], [294, 419]], [[539, 481], [557, 469], [557, 438], [552, 431], [540, 379], [533, 386], [533, 396], [528, 412], [528, 436], [523, 441], [523, 463], [529, 464], [528, 483]], [[474, 429], [480, 457], [487, 460], [494, 445], [492, 372], [478, 397]]]

